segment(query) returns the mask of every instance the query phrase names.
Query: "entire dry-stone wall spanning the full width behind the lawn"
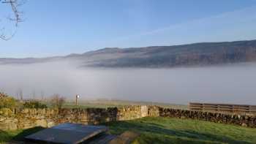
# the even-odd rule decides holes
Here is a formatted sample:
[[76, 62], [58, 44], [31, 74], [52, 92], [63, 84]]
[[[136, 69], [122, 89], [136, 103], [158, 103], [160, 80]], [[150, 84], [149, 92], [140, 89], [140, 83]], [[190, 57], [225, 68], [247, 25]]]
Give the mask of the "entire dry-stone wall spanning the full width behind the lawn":
[[0, 130], [29, 129], [35, 126], [51, 127], [65, 122], [78, 124], [99, 124], [108, 121], [132, 120], [146, 116], [191, 118], [256, 128], [256, 116], [207, 113], [192, 110], [176, 110], [157, 106], [138, 105], [118, 108], [109, 107], [107, 109], [1, 109]]

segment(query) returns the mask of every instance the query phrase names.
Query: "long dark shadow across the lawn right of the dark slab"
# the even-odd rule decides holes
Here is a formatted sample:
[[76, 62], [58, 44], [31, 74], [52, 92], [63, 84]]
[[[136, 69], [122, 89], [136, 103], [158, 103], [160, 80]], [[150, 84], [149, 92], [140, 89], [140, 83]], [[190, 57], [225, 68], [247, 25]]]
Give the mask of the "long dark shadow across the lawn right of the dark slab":
[[[193, 130], [165, 129], [164, 126], [141, 121], [116, 121], [105, 123], [113, 134], [120, 134], [126, 130], [139, 132], [143, 143], [243, 143], [252, 144], [244, 140], [233, 140], [220, 134], [196, 132]], [[172, 140], [170, 140], [172, 139]]]

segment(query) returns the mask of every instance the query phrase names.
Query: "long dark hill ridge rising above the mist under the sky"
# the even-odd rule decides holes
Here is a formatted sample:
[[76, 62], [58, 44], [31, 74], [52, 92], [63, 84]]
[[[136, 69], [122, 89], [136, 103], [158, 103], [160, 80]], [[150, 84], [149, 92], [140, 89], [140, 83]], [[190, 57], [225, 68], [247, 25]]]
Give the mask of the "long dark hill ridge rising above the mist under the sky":
[[80, 61], [82, 67], [183, 67], [256, 61], [256, 40], [146, 48], [104, 48], [48, 58], [0, 58], [0, 64]]

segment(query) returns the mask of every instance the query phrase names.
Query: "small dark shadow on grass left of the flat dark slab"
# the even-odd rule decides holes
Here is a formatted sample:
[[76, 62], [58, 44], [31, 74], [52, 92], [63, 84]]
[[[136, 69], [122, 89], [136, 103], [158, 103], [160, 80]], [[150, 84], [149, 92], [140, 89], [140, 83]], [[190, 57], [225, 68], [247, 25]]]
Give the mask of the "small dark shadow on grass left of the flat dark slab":
[[37, 126], [37, 127], [30, 128], [30, 129], [24, 129], [22, 132], [20, 132], [15, 137], [13, 137], [12, 140], [24, 141], [26, 136], [28, 136], [30, 134], [34, 134], [35, 132], [39, 132], [42, 129], [45, 129], [45, 128], [43, 128], [41, 126]]

